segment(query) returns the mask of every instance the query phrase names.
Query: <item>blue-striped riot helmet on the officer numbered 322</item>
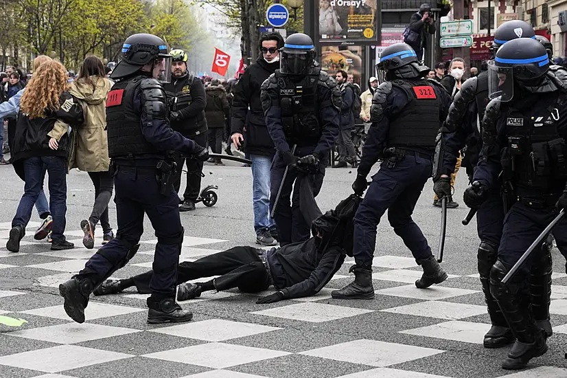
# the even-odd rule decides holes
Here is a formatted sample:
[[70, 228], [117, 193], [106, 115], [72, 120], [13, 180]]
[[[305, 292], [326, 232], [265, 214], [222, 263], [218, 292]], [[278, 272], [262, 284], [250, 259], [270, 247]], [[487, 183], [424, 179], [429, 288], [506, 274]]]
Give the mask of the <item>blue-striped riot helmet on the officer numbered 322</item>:
[[380, 62], [376, 65], [380, 83], [395, 78], [420, 78], [429, 72], [421, 65], [414, 49], [406, 43], [395, 43], [382, 50]]

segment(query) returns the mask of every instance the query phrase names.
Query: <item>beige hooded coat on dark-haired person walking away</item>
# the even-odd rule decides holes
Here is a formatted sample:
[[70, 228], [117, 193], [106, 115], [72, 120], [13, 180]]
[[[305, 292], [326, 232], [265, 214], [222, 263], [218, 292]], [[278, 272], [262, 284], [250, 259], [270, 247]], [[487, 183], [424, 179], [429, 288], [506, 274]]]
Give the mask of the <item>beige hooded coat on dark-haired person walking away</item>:
[[[83, 81], [71, 83], [69, 93], [78, 98], [84, 111], [84, 124], [73, 130], [69, 148], [68, 169], [85, 172], [108, 170], [108, 140], [106, 138], [106, 98], [112, 82], [106, 78], [93, 78], [96, 87]], [[76, 133], [75, 133], [76, 131]]]

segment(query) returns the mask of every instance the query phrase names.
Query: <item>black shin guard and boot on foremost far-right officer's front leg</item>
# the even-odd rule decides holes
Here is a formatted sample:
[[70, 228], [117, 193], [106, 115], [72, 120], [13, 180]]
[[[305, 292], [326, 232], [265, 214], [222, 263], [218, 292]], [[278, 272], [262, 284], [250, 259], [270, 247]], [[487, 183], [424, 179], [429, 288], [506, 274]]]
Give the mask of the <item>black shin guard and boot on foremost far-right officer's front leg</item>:
[[502, 362], [506, 370], [518, 370], [527, 366], [530, 359], [540, 357], [547, 351], [544, 332], [539, 329], [531, 317], [527, 282], [521, 278], [502, 284], [507, 269], [496, 261], [490, 271], [490, 291], [498, 302], [516, 342], [508, 357]]

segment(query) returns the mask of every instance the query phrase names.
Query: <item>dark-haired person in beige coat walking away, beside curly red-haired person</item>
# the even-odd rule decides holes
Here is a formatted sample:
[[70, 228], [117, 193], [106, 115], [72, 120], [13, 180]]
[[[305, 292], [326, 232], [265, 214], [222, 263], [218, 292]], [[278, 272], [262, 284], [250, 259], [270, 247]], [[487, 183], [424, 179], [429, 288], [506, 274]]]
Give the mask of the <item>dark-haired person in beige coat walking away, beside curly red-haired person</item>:
[[[95, 227], [99, 221], [103, 232], [102, 243], [108, 243], [114, 237], [108, 221], [108, 202], [112, 197], [113, 178], [108, 172], [110, 159], [106, 139], [106, 97], [112, 82], [105, 76], [102, 60], [96, 56], [87, 56], [77, 80], [69, 86], [69, 93], [82, 105], [84, 123], [71, 133], [67, 170], [79, 168], [89, 173], [95, 187], [95, 203], [91, 215], [89, 219], [81, 221], [81, 230], [84, 232], [82, 243], [88, 249], [95, 246]], [[60, 140], [65, 134], [66, 126], [56, 122], [56, 140]]]

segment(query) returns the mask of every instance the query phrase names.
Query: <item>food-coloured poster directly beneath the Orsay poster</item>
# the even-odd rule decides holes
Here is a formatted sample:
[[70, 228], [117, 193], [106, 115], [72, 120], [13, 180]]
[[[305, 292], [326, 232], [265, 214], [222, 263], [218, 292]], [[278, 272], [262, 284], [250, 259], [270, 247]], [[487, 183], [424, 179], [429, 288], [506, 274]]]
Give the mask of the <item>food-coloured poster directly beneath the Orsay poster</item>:
[[331, 76], [344, 69], [360, 85], [363, 51], [362, 46], [321, 46], [321, 69]]

